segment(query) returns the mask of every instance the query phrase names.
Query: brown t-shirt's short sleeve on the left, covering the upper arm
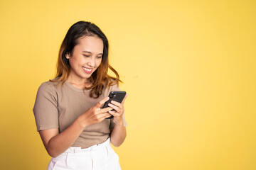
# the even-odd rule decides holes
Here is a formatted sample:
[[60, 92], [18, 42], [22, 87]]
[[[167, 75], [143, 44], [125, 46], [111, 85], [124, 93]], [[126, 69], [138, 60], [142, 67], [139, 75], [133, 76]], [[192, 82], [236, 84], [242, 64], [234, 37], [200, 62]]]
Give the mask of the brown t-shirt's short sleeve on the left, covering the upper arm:
[[33, 113], [37, 131], [58, 128], [58, 95], [46, 82], [39, 86]]

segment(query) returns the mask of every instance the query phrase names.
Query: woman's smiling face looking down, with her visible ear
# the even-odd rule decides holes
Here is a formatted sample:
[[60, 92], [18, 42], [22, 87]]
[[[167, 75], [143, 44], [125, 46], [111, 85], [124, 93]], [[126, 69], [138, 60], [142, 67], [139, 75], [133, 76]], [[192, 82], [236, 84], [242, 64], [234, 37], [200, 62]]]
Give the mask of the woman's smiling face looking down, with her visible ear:
[[73, 54], [66, 55], [70, 63], [70, 77], [75, 81], [87, 80], [100, 66], [103, 55], [103, 41], [97, 36], [78, 39]]

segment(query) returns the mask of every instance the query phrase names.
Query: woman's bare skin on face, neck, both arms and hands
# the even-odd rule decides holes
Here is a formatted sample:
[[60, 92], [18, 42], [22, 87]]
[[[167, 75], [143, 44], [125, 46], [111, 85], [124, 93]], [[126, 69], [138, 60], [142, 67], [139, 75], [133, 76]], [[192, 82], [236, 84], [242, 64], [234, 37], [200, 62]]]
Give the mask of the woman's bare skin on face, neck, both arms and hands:
[[[84, 89], [85, 86], [90, 86], [87, 79], [95, 72], [97, 67], [100, 66], [102, 53], [103, 42], [100, 38], [96, 36], [79, 38], [79, 43], [74, 47], [73, 54], [66, 55], [66, 58], [70, 61], [71, 67], [70, 75], [67, 79], [68, 83], [78, 89]], [[92, 72], [88, 74], [82, 67], [92, 69]], [[114, 128], [111, 129], [110, 142], [114, 147], [122, 145], [127, 135], [122, 119], [125, 98], [127, 98], [127, 96], [124, 97], [122, 103], [112, 101], [109, 104], [110, 107], [101, 109], [104, 103], [109, 99], [109, 97], [103, 98], [95, 106], [92, 106], [92, 108], [89, 108], [85, 113], [80, 115], [61, 133], [58, 132], [58, 128], [40, 130], [39, 134], [48, 154], [51, 157], [58, 157], [59, 154], [62, 154], [73, 145], [82, 130], [88, 125], [100, 123], [105, 120], [105, 118], [110, 117], [110, 115], [114, 116], [113, 121], [115, 123]], [[114, 109], [114, 111], [111, 111], [112, 109]]]

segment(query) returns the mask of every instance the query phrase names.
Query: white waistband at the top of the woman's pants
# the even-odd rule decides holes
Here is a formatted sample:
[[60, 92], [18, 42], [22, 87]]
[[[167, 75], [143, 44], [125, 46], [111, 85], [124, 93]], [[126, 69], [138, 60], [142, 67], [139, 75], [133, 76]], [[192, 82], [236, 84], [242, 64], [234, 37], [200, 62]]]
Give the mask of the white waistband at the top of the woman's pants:
[[105, 146], [110, 146], [110, 137], [101, 144], [92, 145], [91, 147], [87, 147], [85, 149], [82, 149], [81, 147], [69, 147], [64, 153], [90, 152], [92, 150], [97, 150]]

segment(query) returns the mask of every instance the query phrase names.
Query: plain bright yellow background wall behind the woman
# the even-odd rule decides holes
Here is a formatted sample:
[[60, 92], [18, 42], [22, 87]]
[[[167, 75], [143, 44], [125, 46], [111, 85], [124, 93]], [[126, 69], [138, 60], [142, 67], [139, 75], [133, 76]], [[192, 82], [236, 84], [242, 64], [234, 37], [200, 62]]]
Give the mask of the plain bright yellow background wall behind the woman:
[[123, 170], [256, 169], [255, 1], [1, 1], [1, 169], [46, 169], [38, 86], [92, 21], [129, 94]]

